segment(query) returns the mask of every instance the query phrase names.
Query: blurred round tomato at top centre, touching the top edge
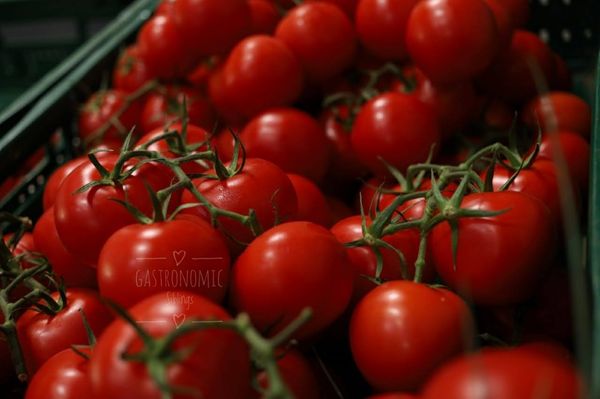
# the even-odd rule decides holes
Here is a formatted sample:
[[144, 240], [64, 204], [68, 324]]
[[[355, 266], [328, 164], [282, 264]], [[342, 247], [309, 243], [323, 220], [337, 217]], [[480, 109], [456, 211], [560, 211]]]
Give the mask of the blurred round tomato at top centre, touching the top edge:
[[328, 3], [293, 8], [277, 25], [275, 37], [292, 50], [311, 82], [339, 75], [356, 53], [352, 22], [339, 7]]

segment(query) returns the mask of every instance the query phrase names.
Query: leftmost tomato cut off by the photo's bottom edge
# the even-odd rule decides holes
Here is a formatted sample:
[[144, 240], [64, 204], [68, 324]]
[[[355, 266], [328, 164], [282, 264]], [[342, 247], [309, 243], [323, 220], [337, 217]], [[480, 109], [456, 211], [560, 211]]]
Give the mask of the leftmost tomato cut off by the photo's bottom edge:
[[[90, 356], [92, 349], [80, 348]], [[27, 386], [25, 399], [93, 399], [86, 358], [68, 348], [52, 356]]]

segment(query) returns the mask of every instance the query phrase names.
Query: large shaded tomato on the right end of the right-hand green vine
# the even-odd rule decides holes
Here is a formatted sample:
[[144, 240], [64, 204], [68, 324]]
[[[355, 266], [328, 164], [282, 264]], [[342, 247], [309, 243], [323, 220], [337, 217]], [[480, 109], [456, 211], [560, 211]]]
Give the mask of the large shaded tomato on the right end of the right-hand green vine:
[[501, 191], [469, 194], [461, 207], [506, 212], [458, 220], [456, 265], [448, 223], [434, 227], [429, 247], [440, 277], [479, 305], [509, 305], [529, 298], [555, 248], [553, 220], [545, 204], [524, 193]]

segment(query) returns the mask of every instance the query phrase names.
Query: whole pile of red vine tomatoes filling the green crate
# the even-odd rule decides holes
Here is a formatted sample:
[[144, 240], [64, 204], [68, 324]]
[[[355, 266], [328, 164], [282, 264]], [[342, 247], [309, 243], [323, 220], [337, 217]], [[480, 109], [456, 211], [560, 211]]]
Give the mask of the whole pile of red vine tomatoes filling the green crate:
[[0, 381], [27, 399], [585, 398], [564, 242], [591, 113], [528, 13], [162, 1], [81, 107], [85, 153], [43, 215], [1, 215]]

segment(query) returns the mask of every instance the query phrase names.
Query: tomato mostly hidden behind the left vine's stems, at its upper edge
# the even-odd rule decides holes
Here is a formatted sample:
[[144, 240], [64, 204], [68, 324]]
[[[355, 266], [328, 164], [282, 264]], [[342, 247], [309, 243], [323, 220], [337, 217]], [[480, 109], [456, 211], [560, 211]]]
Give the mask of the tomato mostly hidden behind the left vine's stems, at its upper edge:
[[[145, 143], [148, 143], [149, 141], [155, 139], [156, 137], [165, 134], [166, 131], [176, 131], [179, 135], [181, 135], [182, 125], [180, 122], [175, 122], [172, 125], [169, 125], [168, 128], [166, 128], [166, 130], [164, 128], [156, 128], [154, 130], [151, 130], [146, 135], [144, 135], [141, 139], [139, 139], [139, 141], [136, 144], [136, 147], [139, 147]], [[210, 134], [203, 128], [188, 124], [186, 126], [186, 140], [183, 144], [186, 147], [187, 146], [198, 146], [198, 145], [202, 144], [201, 146], [196, 148], [194, 151], [191, 151], [191, 153], [206, 151], [207, 150], [207, 142], [209, 140], [209, 137], [210, 137]], [[182, 136], [182, 138], [183, 138], [183, 136]], [[187, 152], [189, 152], [187, 148], [185, 149], [185, 151], [181, 151], [177, 147], [176, 144], [171, 145], [171, 144], [169, 144], [169, 142], [167, 140], [156, 141], [153, 144], [150, 144], [147, 147], [147, 149], [150, 151], [157, 151], [165, 158], [170, 158], [170, 159], [175, 159], [175, 158], [187, 155]], [[206, 169], [208, 168], [208, 163], [207, 163], [207, 161], [204, 161], [204, 160], [188, 161], [188, 162], [182, 163], [181, 168], [184, 170], [185, 173], [190, 174], [190, 175], [200, 174], [200, 173], [203, 173], [206, 171]]]

